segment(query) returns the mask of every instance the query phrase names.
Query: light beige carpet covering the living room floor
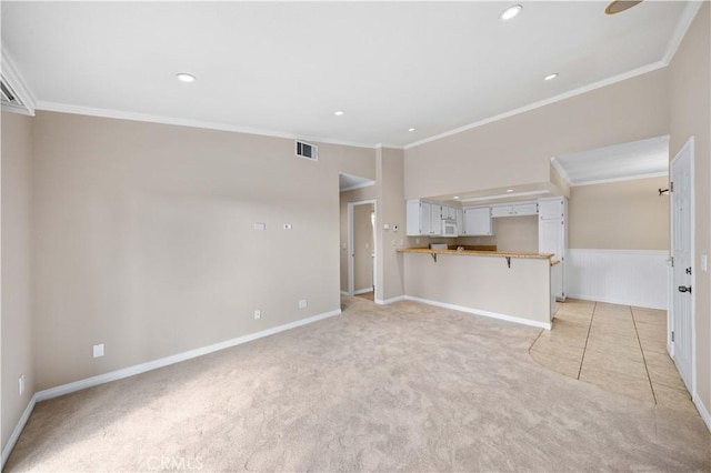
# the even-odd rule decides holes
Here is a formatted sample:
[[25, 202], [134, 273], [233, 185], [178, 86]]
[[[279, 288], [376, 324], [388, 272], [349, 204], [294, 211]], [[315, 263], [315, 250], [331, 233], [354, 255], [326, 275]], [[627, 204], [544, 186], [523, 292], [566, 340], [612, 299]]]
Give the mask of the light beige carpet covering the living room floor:
[[343, 315], [39, 403], [7, 471], [710, 471], [699, 416], [535, 363], [538, 329]]

